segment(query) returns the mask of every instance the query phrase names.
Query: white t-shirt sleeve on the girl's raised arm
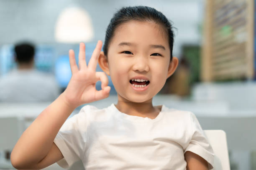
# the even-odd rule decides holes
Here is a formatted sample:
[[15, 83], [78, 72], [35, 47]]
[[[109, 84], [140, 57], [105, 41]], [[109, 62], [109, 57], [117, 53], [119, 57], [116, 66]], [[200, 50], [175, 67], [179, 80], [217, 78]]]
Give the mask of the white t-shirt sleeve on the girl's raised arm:
[[54, 143], [64, 156], [57, 162], [62, 168], [70, 167], [84, 156], [87, 140], [85, 112], [86, 106], [77, 115], [67, 119], [54, 139]]

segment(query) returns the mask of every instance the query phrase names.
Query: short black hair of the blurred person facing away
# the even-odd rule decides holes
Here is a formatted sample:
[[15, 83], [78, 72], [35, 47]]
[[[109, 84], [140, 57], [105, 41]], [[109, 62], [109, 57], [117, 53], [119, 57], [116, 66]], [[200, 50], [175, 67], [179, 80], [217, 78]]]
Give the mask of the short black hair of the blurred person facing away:
[[16, 44], [14, 51], [18, 63], [31, 62], [35, 55], [35, 47], [29, 42], [20, 42]]

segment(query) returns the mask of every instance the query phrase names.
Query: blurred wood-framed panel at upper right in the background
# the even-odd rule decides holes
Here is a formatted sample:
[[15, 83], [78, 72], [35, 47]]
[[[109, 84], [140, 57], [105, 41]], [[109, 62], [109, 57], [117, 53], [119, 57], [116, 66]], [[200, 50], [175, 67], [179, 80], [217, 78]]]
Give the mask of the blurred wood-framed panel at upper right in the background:
[[253, 0], [206, 2], [202, 80], [253, 79]]

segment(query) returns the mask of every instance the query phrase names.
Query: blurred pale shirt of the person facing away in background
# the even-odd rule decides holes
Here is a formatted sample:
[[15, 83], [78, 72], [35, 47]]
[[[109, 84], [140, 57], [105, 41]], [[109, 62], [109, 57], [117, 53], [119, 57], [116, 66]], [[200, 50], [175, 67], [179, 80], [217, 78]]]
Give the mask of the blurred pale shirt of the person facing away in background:
[[54, 76], [37, 70], [13, 70], [0, 78], [0, 102], [50, 102], [59, 94]]

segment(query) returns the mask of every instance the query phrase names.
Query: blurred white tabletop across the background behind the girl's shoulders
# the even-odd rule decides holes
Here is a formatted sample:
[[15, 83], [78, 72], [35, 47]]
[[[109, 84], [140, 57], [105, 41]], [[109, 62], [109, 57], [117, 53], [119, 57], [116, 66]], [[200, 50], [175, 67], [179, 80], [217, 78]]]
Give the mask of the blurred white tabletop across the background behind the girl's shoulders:
[[[116, 95], [110, 95], [106, 99], [88, 105], [104, 108], [112, 103], [117, 103]], [[49, 104], [51, 103], [0, 103], [0, 117], [37, 117]], [[174, 95], [156, 95], [153, 98], [153, 104], [189, 110], [200, 117], [256, 117], [256, 107], [250, 110], [230, 110], [228, 102], [225, 101], [190, 101]], [[79, 112], [81, 108], [82, 106], [77, 107], [73, 114]]]

